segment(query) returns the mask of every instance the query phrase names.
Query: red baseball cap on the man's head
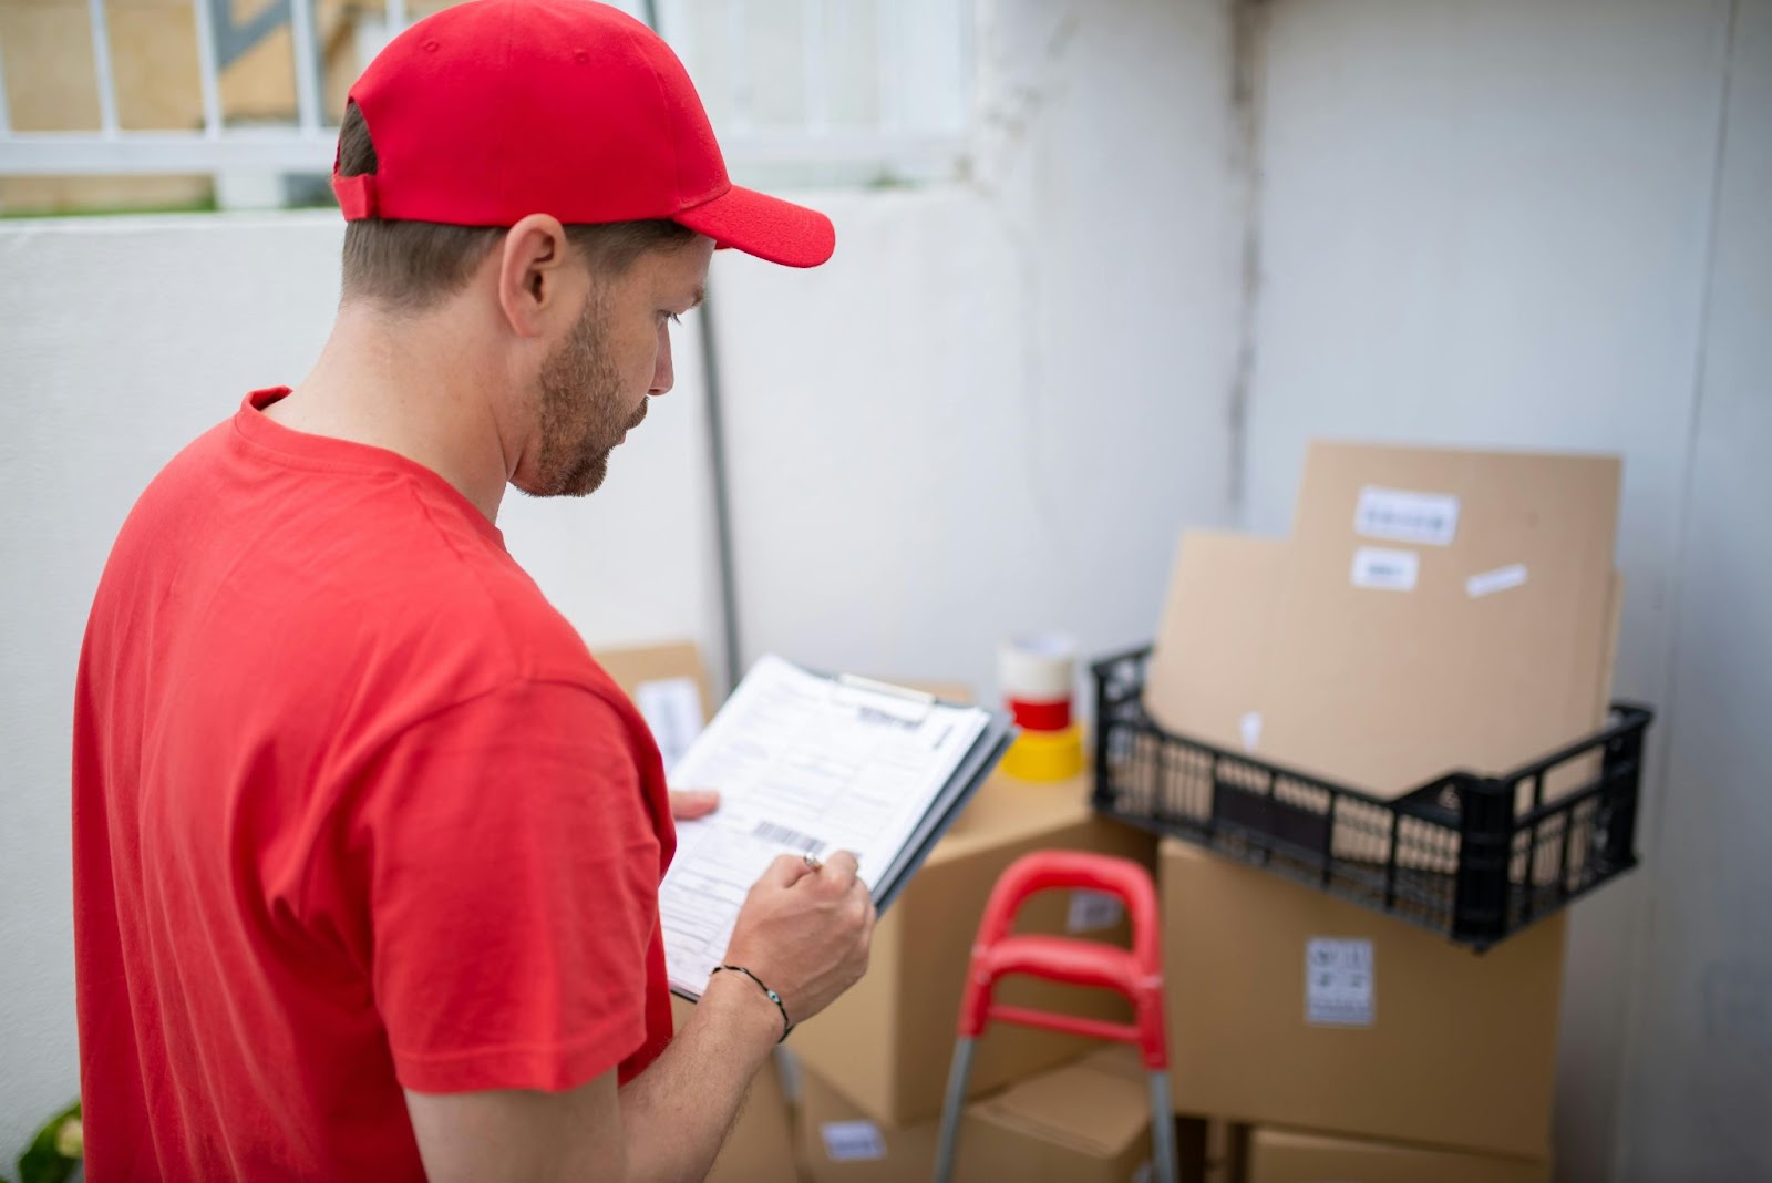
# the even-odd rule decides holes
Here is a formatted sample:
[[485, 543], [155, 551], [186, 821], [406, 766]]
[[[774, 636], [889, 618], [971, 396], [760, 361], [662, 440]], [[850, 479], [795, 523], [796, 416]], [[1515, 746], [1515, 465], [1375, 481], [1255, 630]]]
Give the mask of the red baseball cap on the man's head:
[[790, 267], [836, 248], [824, 214], [741, 189], [682, 62], [595, 0], [470, 0], [418, 21], [351, 87], [376, 172], [346, 220], [509, 227], [670, 218]]

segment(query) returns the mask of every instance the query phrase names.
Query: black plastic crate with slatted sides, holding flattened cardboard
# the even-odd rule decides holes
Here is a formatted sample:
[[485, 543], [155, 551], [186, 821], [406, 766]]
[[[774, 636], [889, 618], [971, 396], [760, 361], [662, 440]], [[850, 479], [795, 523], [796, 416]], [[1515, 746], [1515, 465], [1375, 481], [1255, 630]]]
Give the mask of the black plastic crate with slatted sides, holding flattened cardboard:
[[1095, 664], [1108, 816], [1478, 951], [1637, 864], [1646, 707], [1613, 703], [1602, 731], [1506, 776], [1448, 772], [1387, 800], [1164, 731], [1145, 714], [1148, 661], [1146, 646]]

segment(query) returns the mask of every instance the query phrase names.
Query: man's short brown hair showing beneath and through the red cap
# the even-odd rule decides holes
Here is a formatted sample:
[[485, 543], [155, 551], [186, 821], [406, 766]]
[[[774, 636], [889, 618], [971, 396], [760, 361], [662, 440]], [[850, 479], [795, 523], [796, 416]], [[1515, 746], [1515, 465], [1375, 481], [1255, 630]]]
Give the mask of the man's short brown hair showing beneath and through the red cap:
[[[338, 126], [338, 175], [376, 172], [376, 143], [356, 103]], [[344, 298], [372, 299], [400, 312], [424, 312], [459, 292], [507, 227], [361, 218], [344, 230]], [[668, 218], [569, 225], [567, 241], [590, 267], [617, 276], [650, 250], [680, 250], [695, 230]]]

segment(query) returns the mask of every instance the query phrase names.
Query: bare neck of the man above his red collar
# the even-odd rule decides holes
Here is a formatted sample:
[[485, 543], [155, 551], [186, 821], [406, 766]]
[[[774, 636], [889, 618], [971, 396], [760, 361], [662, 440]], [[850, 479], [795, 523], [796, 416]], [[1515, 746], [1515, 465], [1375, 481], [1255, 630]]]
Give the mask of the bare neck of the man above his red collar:
[[487, 521], [510, 478], [470, 326], [346, 305], [308, 377], [266, 414], [284, 427], [386, 448], [454, 485]]

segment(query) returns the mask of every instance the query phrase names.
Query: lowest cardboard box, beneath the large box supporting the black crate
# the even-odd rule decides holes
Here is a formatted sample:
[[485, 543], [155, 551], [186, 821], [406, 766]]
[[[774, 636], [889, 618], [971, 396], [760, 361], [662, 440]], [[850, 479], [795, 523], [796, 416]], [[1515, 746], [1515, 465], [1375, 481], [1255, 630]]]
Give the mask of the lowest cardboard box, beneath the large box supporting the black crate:
[[1550, 1183], [1550, 1164], [1258, 1128], [1247, 1183]]

